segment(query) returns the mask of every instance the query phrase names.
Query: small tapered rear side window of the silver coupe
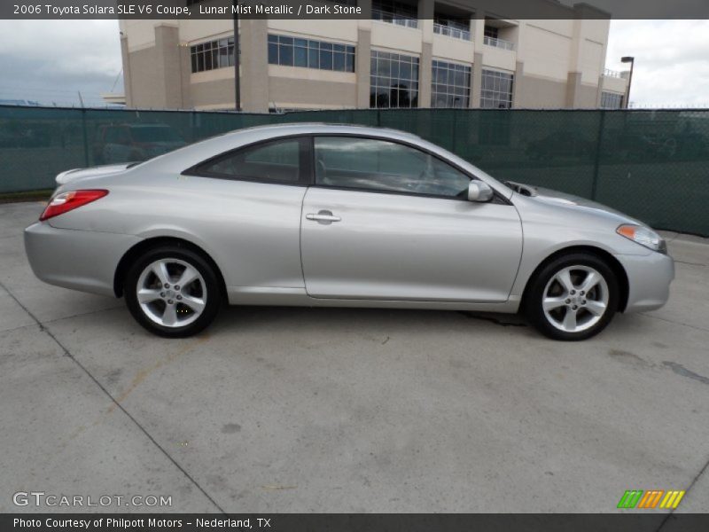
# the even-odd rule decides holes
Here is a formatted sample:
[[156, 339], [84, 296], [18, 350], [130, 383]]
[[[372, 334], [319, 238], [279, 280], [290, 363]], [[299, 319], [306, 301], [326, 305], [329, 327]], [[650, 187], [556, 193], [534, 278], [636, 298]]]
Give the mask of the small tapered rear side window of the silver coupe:
[[197, 168], [199, 175], [253, 179], [276, 183], [300, 181], [300, 156], [305, 139], [289, 138], [246, 147], [207, 161]]

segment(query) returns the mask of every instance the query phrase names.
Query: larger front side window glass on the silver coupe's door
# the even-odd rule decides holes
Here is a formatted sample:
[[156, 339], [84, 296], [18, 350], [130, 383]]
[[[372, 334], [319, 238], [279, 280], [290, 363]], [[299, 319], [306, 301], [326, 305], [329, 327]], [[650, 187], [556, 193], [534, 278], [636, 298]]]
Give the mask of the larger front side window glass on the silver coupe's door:
[[464, 198], [470, 177], [416, 148], [376, 138], [316, 137], [316, 184]]

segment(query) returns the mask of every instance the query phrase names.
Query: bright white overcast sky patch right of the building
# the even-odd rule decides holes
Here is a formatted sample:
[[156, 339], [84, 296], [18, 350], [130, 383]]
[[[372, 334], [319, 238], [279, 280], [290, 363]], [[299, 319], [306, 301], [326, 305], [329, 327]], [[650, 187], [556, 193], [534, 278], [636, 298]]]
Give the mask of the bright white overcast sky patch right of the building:
[[636, 106], [709, 106], [709, 20], [612, 20], [606, 66], [627, 70]]

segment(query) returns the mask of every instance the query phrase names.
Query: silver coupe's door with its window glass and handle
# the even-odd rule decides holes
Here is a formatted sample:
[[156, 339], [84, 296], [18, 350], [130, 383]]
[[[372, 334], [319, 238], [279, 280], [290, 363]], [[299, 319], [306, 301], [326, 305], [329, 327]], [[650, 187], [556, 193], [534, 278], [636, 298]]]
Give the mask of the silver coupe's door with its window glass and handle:
[[506, 301], [522, 228], [506, 201], [467, 200], [471, 176], [386, 139], [314, 139], [300, 253], [314, 298]]

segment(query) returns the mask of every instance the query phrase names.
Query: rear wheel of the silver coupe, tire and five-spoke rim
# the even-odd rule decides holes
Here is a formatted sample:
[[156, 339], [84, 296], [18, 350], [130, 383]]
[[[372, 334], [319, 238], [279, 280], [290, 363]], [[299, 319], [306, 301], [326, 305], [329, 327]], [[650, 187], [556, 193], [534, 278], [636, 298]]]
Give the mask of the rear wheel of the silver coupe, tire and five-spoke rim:
[[165, 338], [185, 338], [212, 323], [222, 302], [220, 286], [217, 272], [201, 254], [159, 246], [133, 263], [123, 293], [130, 313], [145, 329]]

